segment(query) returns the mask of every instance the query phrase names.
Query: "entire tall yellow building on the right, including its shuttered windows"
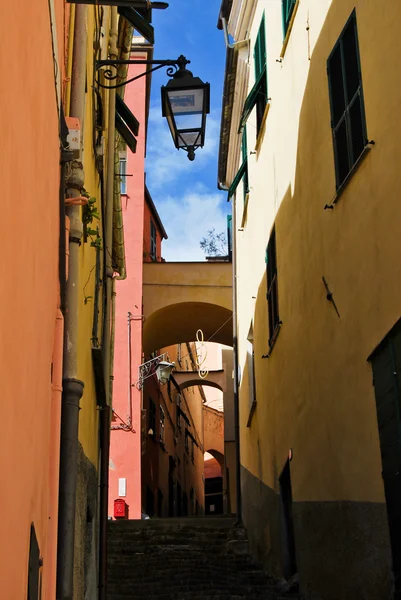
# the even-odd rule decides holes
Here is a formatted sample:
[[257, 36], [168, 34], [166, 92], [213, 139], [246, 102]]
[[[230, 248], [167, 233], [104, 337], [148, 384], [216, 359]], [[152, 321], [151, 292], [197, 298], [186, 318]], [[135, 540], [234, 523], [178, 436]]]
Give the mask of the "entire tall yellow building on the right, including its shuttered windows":
[[219, 17], [243, 519], [266, 566], [329, 600], [400, 593], [400, 90], [379, 58], [399, 17], [369, 0]]

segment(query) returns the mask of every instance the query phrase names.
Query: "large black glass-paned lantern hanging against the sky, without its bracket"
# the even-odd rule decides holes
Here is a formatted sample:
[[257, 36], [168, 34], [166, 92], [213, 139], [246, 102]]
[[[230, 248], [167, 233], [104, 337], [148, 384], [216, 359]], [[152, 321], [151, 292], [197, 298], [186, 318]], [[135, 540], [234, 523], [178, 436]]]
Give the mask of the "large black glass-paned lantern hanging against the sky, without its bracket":
[[189, 160], [194, 160], [195, 150], [205, 143], [210, 85], [188, 71], [185, 56], [181, 55], [177, 63], [178, 71], [162, 86], [162, 114], [167, 118], [175, 147], [186, 150]]

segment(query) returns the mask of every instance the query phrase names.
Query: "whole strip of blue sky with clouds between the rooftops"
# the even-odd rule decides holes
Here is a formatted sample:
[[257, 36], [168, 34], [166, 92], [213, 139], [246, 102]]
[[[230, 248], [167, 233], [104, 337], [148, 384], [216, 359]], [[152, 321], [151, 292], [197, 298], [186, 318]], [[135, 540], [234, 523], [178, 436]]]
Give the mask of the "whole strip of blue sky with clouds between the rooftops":
[[[168, 0], [167, 0], [168, 1]], [[153, 11], [155, 59], [184, 54], [195, 77], [210, 83], [206, 141], [193, 162], [176, 150], [161, 116], [160, 88], [165, 69], [154, 73], [147, 141], [146, 181], [168, 234], [163, 257], [168, 261], [204, 260], [199, 246], [208, 230], [226, 230], [227, 193], [217, 189], [217, 161], [225, 66], [224, 35], [216, 27], [221, 0], [170, 0]]]

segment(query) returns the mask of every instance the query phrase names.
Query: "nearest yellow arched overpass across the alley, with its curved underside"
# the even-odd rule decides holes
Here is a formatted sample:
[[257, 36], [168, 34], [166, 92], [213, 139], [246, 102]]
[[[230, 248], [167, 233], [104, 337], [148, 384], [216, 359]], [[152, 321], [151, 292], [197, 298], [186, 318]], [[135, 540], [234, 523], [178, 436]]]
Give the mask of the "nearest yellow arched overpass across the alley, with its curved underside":
[[204, 339], [232, 345], [231, 263], [144, 263], [145, 356], [180, 342]]

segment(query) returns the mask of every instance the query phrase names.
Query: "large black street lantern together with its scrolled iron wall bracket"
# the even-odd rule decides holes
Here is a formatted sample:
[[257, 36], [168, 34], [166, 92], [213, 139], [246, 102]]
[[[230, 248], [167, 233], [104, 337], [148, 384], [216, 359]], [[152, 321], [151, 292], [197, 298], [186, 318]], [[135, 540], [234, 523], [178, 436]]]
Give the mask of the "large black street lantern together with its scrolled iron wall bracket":
[[[166, 86], [162, 86], [162, 114], [167, 118], [174, 145], [188, 153], [194, 160], [195, 150], [205, 143], [206, 115], [210, 112], [210, 84], [194, 77], [186, 68], [190, 61], [185, 56], [177, 60], [98, 60], [96, 71], [102, 70], [105, 83], [97, 79], [97, 84], [106, 89], [116, 89], [135, 81], [148, 73], [167, 68], [171, 77]], [[151, 68], [127, 81], [113, 83], [118, 79], [120, 65], [150, 65]]]

